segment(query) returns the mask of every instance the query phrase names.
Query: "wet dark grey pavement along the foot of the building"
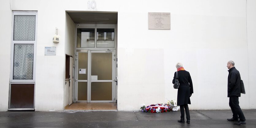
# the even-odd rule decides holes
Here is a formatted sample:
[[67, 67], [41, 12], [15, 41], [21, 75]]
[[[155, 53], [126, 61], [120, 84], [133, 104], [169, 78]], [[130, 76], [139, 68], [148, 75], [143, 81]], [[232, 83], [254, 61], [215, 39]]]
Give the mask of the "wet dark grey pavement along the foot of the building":
[[140, 111], [7, 111], [0, 112], [0, 127], [194, 127], [256, 128], [256, 110], [243, 110], [246, 125], [227, 121], [231, 110], [190, 110], [190, 124], [177, 122], [180, 111], [143, 113]]

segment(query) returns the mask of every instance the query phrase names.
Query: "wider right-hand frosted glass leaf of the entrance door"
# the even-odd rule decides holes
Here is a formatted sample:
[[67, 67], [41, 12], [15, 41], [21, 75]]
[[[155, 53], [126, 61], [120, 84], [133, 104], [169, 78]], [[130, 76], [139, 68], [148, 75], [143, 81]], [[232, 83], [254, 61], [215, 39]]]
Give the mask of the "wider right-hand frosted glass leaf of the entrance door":
[[114, 53], [91, 51], [90, 102], [114, 101]]

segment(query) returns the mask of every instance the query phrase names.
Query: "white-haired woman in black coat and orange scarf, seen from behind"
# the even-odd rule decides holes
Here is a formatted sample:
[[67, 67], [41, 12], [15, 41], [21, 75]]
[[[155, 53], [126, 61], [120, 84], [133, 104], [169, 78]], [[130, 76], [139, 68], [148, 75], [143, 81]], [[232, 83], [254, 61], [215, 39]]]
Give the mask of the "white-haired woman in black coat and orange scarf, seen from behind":
[[[180, 83], [180, 87], [178, 88], [178, 96], [177, 96], [177, 105], [180, 106], [181, 109], [181, 119], [178, 122], [185, 123], [184, 119], [184, 108], [186, 112], [187, 123], [190, 123], [190, 115], [189, 115], [189, 106], [190, 96], [193, 93], [193, 84], [191, 80], [191, 76], [188, 71], [185, 71], [181, 63], [176, 64], [177, 72], [178, 72], [178, 80]], [[174, 77], [172, 83], [174, 84], [176, 79], [176, 72], [174, 73]]]

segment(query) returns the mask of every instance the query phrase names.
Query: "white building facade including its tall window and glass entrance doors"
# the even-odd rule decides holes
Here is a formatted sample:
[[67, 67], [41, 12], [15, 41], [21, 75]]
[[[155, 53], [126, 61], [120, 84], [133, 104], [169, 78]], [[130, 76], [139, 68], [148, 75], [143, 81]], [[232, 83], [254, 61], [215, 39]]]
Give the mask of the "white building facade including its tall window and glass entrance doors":
[[[255, 6], [254, 0], [1, 0], [0, 111], [63, 111], [80, 102], [138, 111], [177, 100], [177, 62], [192, 77], [190, 109], [229, 109], [229, 60], [245, 83], [240, 107], [256, 109]], [[170, 29], [149, 29], [150, 12], [170, 13]]]

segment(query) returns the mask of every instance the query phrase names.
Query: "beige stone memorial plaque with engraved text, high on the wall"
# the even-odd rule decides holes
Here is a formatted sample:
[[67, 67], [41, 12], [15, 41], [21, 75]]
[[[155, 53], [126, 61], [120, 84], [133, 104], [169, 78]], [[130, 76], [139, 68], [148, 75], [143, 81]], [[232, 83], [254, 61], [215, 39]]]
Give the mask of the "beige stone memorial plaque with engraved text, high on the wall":
[[171, 13], [148, 13], [148, 29], [171, 29]]

